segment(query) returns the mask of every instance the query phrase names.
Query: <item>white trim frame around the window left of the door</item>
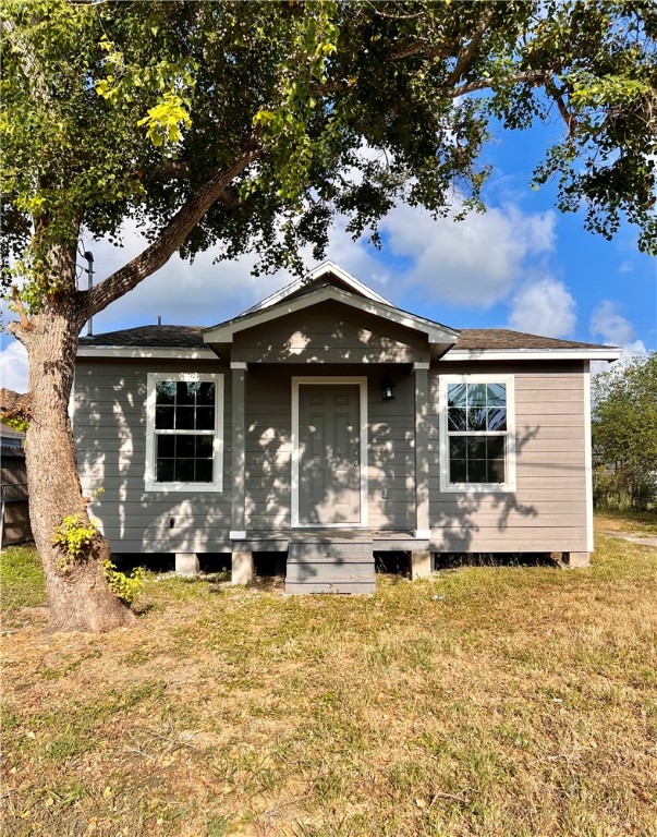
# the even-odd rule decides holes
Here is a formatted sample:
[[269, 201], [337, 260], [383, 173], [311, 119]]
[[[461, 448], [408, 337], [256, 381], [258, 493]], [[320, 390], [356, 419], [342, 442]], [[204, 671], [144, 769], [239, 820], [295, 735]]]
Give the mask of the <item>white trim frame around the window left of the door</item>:
[[[159, 380], [184, 383], [211, 381], [215, 384], [215, 480], [211, 483], [158, 483], [155, 480], [155, 400], [156, 384]], [[196, 372], [149, 372], [146, 398], [146, 472], [144, 483], [147, 492], [221, 492], [223, 489], [223, 375]]]

